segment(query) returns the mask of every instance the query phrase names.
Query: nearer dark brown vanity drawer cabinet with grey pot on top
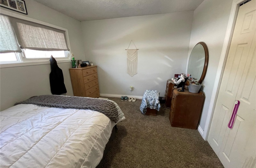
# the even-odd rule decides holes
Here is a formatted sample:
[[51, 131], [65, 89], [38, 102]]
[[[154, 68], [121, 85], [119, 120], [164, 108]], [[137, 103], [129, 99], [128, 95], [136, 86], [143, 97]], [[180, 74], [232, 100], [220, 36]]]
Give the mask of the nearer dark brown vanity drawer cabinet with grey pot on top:
[[173, 90], [169, 120], [172, 127], [196, 129], [204, 103], [204, 93]]

